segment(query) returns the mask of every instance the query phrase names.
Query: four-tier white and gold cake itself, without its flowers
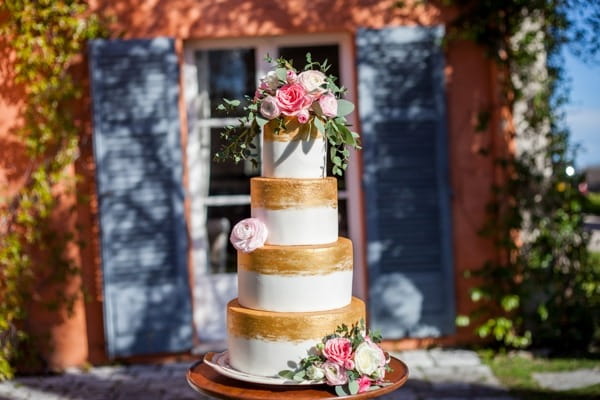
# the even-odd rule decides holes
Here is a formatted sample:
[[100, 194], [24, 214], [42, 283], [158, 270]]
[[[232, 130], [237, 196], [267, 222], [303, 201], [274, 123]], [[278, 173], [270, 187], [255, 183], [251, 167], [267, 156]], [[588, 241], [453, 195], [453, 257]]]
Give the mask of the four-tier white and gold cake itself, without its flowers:
[[262, 147], [250, 197], [268, 234], [263, 246], [238, 250], [227, 334], [231, 366], [273, 376], [338, 326], [364, 320], [365, 305], [352, 297], [352, 242], [338, 237], [337, 180], [324, 176], [322, 133], [306, 137], [297, 127], [275, 137], [267, 125]]

